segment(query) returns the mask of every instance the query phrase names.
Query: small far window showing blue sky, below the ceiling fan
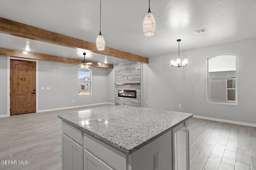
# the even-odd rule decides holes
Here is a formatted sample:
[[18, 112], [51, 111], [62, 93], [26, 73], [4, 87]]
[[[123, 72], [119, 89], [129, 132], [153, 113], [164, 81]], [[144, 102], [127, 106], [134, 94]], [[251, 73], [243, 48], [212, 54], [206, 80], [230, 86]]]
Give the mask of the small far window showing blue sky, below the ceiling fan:
[[78, 69], [78, 95], [91, 95], [92, 70], [79, 68]]

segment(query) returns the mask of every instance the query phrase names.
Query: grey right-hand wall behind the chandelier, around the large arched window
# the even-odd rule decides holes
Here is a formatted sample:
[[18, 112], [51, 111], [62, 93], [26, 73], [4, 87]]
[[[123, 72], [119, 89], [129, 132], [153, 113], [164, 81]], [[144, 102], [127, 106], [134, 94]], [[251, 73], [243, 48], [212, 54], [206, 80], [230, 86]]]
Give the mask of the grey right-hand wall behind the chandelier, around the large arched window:
[[[253, 39], [181, 52], [181, 58], [188, 58], [184, 68], [170, 66], [177, 53], [150, 58], [149, 64], [143, 64], [144, 107], [255, 124], [255, 47]], [[238, 105], [207, 103], [206, 59], [218, 54], [237, 56]]]

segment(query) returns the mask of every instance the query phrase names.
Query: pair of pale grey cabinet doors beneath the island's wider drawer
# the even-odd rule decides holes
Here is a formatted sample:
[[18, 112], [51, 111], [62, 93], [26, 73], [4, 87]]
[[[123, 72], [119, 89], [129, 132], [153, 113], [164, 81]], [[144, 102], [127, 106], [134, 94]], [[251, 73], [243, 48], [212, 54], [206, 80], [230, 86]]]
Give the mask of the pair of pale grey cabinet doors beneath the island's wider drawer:
[[91, 152], [84, 149], [84, 170], [114, 170]]

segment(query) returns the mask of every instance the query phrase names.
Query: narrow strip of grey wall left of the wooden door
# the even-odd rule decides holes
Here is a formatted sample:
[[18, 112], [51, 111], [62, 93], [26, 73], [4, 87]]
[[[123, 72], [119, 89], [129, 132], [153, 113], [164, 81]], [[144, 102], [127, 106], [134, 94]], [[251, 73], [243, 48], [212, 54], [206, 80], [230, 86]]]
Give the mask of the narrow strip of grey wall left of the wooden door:
[[0, 55], [0, 116], [7, 114], [7, 57]]

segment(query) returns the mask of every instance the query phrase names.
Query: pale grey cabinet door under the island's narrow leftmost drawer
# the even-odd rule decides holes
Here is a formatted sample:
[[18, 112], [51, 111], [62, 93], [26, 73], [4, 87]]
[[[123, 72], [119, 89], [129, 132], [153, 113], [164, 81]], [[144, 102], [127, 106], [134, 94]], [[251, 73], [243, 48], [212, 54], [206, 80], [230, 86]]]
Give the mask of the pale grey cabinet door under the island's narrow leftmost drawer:
[[62, 170], [83, 169], [83, 147], [62, 133]]

